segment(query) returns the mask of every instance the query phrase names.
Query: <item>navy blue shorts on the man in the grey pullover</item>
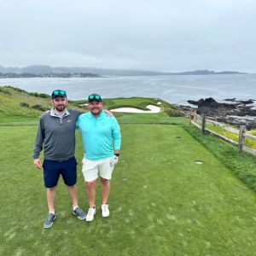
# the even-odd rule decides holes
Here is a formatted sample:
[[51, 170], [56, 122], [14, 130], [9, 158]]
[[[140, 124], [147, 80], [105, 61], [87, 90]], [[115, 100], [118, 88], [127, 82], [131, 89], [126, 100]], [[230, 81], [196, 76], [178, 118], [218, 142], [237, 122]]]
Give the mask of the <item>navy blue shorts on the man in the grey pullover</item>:
[[44, 186], [53, 188], [62, 176], [67, 186], [77, 183], [77, 160], [73, 157], [67, 161], [44, 160]]

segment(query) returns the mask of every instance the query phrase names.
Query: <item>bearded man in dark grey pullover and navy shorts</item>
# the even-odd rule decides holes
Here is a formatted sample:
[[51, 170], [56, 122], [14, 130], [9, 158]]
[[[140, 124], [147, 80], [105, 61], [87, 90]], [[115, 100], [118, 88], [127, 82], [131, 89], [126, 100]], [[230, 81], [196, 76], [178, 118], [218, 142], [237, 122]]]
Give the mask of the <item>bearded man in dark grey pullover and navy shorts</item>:
[[76, 109], [67, 110], [67, 95], [64, 90], [52, 93], [53, 108], [44, 113], [39, 121], [38, 135], [33, 154], [34, 166], [42, 168], [39, 154], [44, 146], [44, 186], [46, 188], [49, 213], [44, 220], [44, 228], [49, 229], [55, 220], [55, 187], [62, 176], [73, 202], [73, 214], [79, 219], [85, 213], [78, 204], [77, 161], [75, 151], [75, 125], [81, 113]]

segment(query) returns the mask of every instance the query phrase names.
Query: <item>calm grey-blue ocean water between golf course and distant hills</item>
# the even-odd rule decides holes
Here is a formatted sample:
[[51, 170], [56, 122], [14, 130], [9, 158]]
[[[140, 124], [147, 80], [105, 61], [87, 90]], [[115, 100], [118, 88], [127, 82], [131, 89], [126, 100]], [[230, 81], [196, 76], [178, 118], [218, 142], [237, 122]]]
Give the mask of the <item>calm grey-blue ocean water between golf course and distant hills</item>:
[[253, 108], [256, 108], [256, 74], [0, 79], [0, 86], [3, 85], [47, 94], [55, 89], [67, 90], [67, 97], [71, 100], [86, 99], [94, 92], [108, 98], [146, 96], [183, 105], [189, 105], [188, 100], [206, 97], [218, 101], [236, 98], [253, 99]]

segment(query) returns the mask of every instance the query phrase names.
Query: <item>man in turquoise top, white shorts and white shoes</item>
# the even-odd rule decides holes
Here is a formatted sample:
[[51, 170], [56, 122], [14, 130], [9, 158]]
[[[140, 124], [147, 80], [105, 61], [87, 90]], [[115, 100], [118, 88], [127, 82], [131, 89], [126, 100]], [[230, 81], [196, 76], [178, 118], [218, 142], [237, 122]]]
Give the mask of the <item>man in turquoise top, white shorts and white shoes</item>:
[[96, 214], [96, 179], [102, 183], [102, 217], [109, 216], [108, 195], [113, 167], [119, 160], [121, 145], [120, 128], [113, 116], [102, 111], [102, 98], [97, 94], [88, 97], [89, 113], [83, 113], [77, 120], [83, 138], [84, 175], [89, 211], [86, 221], [92, 221]]

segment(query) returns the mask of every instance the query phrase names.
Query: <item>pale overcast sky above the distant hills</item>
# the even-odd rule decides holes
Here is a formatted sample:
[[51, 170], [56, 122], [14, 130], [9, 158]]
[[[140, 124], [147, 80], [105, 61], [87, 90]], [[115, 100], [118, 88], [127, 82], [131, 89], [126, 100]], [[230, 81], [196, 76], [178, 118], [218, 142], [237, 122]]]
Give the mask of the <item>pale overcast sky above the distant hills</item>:
[[256, 72], [256, 1], [0, 0], [0, 65]]

